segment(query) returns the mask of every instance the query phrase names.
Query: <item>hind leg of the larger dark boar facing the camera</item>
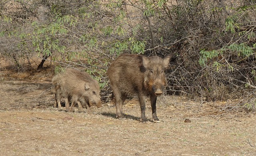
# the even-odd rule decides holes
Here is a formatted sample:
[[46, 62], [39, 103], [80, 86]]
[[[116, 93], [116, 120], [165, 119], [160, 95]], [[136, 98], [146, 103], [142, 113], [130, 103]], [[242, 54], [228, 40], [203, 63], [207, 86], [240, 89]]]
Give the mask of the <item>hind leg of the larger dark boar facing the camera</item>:
[[127, 96], [124, 94], [121, 94], [119, 90], [114, 92], [114, 96], [115, 96], [115, 105], [116, 105], [116, 118], [124, 118], [122, 105]]

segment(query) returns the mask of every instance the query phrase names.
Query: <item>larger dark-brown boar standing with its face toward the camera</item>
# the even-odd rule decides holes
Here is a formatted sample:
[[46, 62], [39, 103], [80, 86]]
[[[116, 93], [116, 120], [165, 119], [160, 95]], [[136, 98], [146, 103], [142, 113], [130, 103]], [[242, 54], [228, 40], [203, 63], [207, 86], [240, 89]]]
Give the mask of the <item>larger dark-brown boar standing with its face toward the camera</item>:
[[146, 121], [145, 96], [150, 95], [152, 117], [156, 116], [156, 98], [164, 92], [167, 84], [164, 68], [169, 64], [170, 56], [150, 58], [136, 54], [120, 55], [107, 71], [115, 97], [116, 116], [123, 118], [122, 104], [128, 95], [137, 95], [140, 101], [141, 121]]

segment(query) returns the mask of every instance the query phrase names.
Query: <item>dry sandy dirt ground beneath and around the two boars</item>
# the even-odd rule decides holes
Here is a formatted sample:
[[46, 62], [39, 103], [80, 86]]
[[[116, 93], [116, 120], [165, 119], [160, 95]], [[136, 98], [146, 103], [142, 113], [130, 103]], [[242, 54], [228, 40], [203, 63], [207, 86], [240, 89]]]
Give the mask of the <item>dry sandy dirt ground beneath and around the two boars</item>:
[[[126, 100], [126, 119], [112, 102], [65, 112], [53, 108], [49, 70], [0, 71], [0, 156], [255, 156], [256, 114], [227, 102], [200, 104], [185, 97], [157, 101], [160, 123], [139, 122], [136, 100]], [[190, 119], [192, 122], [184, 122]]]

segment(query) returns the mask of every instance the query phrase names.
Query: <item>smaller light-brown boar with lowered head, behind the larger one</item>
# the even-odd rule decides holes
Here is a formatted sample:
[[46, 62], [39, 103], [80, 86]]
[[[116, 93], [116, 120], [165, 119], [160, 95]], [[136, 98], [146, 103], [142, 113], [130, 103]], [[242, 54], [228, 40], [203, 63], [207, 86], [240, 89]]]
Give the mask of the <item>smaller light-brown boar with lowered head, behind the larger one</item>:
[[[52, 84], [56, 90], [55, 104], [60, 108], [60, 97], [65, 97], [66, 111], [72, 112], [73, 107], [78, 103], [85, 104], [88, 112], [90, 106], [95, 105], [101, 107], [100, 86], [87, 72], [80, 72], [75, 69], [67, 69], [65, 72], [58, 74], [52, 78]], [[71, 107], [69, 101], [72, 99]]]

